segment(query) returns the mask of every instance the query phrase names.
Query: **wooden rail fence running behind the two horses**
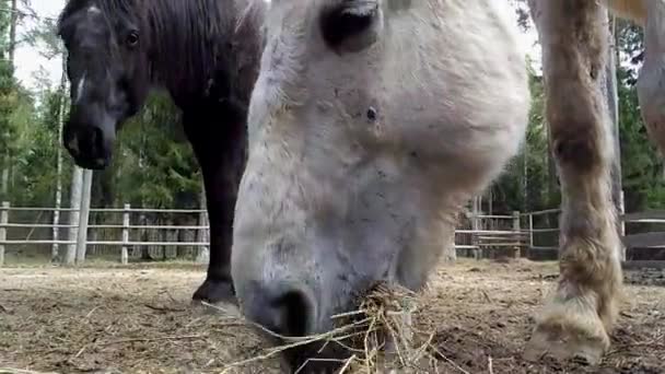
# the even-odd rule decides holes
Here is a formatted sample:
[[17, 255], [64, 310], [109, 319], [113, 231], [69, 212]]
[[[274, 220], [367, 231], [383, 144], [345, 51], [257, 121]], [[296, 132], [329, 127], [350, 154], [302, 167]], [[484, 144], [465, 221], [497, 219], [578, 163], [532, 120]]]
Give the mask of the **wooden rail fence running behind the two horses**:
[[[44, 213], [68, 213], [68, 223], [44, 222]], [[21, 220], [21, 214], [38, 212]], [[73, 214], [72, 214], [73, 213]], [[209, 226], [206, 210], [201, 209], [136, 209], [129, 204], [122, 208], [90, 209], [90, 215], [103, 215], [101, 223], [89, 224], [78, 210], [63, 208], [11, 207], [9, 202], [0, 206], [0, 266], [4, 264], [5, 248], [11, 246], [49, 246], [51, 259], [66, 264], [83, 262], [86, 254], [108, 248], [113, 257], [127, 264], [130, 250], [136, 257], [137, 248], [153, 248], [164, 253], [166, 248], [194, 248], [197, 261], [208, 258]], [[196, 224], [150, 224], [141, 217], [145, 214], [188, 217]], [[466, 212], [460, 217], [455, 231], [455, 248], [465, 257], [527, 257], [532, 259], [552, 259], [557, 256], [559, 238], [560, 209], [536, 212], [512, 212], [512, 214], [482, 214], [479, 211]], [[116, 220], [109, 217], [115, 215]], [[78, 221], [77, 221], [78, 219]], [[665, 225], [665, 211], [648, 211], [621, 214], [621, 231], [626, 225]], [[172, 221], [174, 221], [173, 219]], [[182, 220], [175, 220], [182, 221]], [[138, 222], [138, 223], [137, 223]], [[159, 220], [158, 220], [159, 222]], [[42, 230], [40, 237], [33, 233]], [[48, 232], [44, 232], [48, 231]], [[640, 232], [622, 236], [627, 248], [662, 250], [665, 255], [665, 232]], [[642, 230], [643, 231], [643, 230]], [[171, 239], [164, 235], [148, 235], [147, 232], [171, 232]], [[11, 233], [11, 234], [10, 234]], [[183, 235], [185, 233], [185, 235]], [[66, 234], [62, 238], [61, 234]], [[145, 238], [150, 236], [149, 238]], [[189, 239], [187, 239], [189, 237]], [[60, 246], [65, 246], [62, 252]], [[118, 250], [119, 248], [119, 250]], [[47, 249], [44, 249], [47, 250]], [[176, 249], [177, 252], [177, 249]], [[623, 256], [626, 260], [626, 252]], [[665, 261], [662, 261], [665, 266]]]

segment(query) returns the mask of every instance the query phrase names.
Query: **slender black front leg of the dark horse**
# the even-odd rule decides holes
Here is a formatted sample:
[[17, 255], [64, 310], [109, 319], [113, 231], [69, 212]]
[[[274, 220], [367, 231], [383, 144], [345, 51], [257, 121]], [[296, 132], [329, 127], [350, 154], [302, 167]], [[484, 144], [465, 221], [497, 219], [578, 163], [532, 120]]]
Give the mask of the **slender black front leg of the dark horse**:
[[[211, 116], [219, 118], [219, 116]], [[242, 121], [190, 124], [185, 129], [201, 166], [210, 222], [210, 262], [203, 283], [192, 299], [209, 303], [236, 303], [231, 279], [233, 215], [245, 166], [246, 130]]]

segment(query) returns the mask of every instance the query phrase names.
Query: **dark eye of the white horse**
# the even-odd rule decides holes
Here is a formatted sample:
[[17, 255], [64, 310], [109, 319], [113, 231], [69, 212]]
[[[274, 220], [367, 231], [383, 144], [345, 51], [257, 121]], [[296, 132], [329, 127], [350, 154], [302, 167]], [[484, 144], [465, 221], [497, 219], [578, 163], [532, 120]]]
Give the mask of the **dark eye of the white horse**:
[[369, 33], [378, 15], [376, 1], [347, 1], [324, 11], [320, 28], [324, 40], [332, 49], [340, 49], [347, 42], [358, 38], [348, 50], [360, 50], [376, 40], [376, 33]]

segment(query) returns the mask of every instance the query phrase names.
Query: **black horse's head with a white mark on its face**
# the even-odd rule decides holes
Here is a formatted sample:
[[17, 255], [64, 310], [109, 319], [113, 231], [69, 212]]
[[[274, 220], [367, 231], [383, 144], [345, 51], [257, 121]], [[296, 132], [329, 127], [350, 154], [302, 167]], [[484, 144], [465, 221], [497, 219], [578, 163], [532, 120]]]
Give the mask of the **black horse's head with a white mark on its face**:
[[136, 0], [70, 0], [58, 35], [68, 51], [71, 109], [63, 142], [75, 163], [104, 168], [116, 130], [149, 87], [148, 30]]

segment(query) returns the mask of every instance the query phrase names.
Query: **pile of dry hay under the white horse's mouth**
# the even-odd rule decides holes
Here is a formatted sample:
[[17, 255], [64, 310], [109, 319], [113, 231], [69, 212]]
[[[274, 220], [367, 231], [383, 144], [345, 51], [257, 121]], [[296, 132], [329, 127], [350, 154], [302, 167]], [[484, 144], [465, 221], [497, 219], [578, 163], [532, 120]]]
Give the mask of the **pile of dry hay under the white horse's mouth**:
[[[325, 334], [289, 338], [255, 325], [285, 343], [267, 348], [257, 357], [234, 362], [228, 365], [223, 373], [311, 343], [322, 343], [324, 347], [336, 344], [348, 351], [349, 358], [339, 362], [340, 374], [430, 372], [435, 370], [440, 360], [446, 359], [432, 344], [434, 329], [423, 332], [412, 325], [412, 315], [421, 303], [420, 297], [409, 290], [381, 283], [360, 297], [360, 307], [357, 311], [332, 316], [337, 327]], [[448, 364], [459, 367], [451, 361]], [[295, 372], [301, 372], [305, 365], [306, 363]], [[460, 371], [465, 372], [462, 369]]]

